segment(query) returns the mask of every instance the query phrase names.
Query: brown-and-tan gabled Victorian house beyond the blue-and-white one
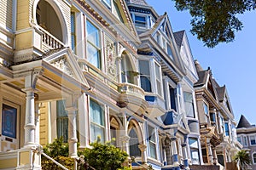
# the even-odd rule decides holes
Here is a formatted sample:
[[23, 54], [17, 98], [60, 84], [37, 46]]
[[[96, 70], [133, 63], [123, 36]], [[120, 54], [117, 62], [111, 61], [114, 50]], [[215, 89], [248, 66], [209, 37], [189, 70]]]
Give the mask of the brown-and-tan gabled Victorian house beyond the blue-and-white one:
[[195, 60], [199, 81], [195, 82], [196, 105], [200, 122], [202, 159], [206, 165], [229, 169], [232, 157], [241, 150], [236, 139], [236, 121], [225, 86], [203, 70]]

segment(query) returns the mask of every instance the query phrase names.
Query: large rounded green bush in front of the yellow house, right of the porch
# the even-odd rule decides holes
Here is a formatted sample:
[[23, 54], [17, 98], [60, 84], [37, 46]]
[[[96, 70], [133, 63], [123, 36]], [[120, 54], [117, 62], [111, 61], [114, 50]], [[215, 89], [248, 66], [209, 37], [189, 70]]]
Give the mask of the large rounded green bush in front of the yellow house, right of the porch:
[[102, 144], [100, 140], [97, 140], [97, 142], [90, 145], [92, 149], [86, 148], [82, 152], [84, 161], [88, 162], [90, 167], [94, 167], [96, 170], [129, 169], [128, 167], [122, 167], [128, 157], [127, 153], [116, 148], [111, 142]]

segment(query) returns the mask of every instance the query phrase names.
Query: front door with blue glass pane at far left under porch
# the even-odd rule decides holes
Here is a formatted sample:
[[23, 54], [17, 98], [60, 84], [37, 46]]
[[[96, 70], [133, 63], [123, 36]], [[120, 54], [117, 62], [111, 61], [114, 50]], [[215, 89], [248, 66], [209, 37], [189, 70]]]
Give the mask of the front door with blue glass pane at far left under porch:
[[20, 105], [3, 100], [0, 116], [0, 151], [16, 150], [19, 147]]

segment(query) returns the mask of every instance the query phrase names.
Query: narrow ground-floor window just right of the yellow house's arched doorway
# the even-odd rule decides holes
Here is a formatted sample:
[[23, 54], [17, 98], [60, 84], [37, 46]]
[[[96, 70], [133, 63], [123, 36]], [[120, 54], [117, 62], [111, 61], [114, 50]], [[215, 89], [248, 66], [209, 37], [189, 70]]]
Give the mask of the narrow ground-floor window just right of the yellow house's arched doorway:
[[156, 159], [156, 139], [154, 127], [148, 126], [149, 156]]

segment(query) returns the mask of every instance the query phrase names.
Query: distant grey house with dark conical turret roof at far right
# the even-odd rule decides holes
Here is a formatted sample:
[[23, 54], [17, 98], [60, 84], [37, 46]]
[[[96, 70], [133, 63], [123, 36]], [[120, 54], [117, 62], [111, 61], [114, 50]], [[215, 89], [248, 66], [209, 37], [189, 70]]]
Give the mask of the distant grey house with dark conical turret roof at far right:
[[247, 169], [256, 168], [256, 143], [255, 143], [255, 134], [256, 127], [255, 125], [250, 124], [247, 121], [247, 118], [241, 115], [238, 125], [236, 127], [237, 140], [242, 144], [242, 149], [247, 150], [251, 156], [252, 164]]

